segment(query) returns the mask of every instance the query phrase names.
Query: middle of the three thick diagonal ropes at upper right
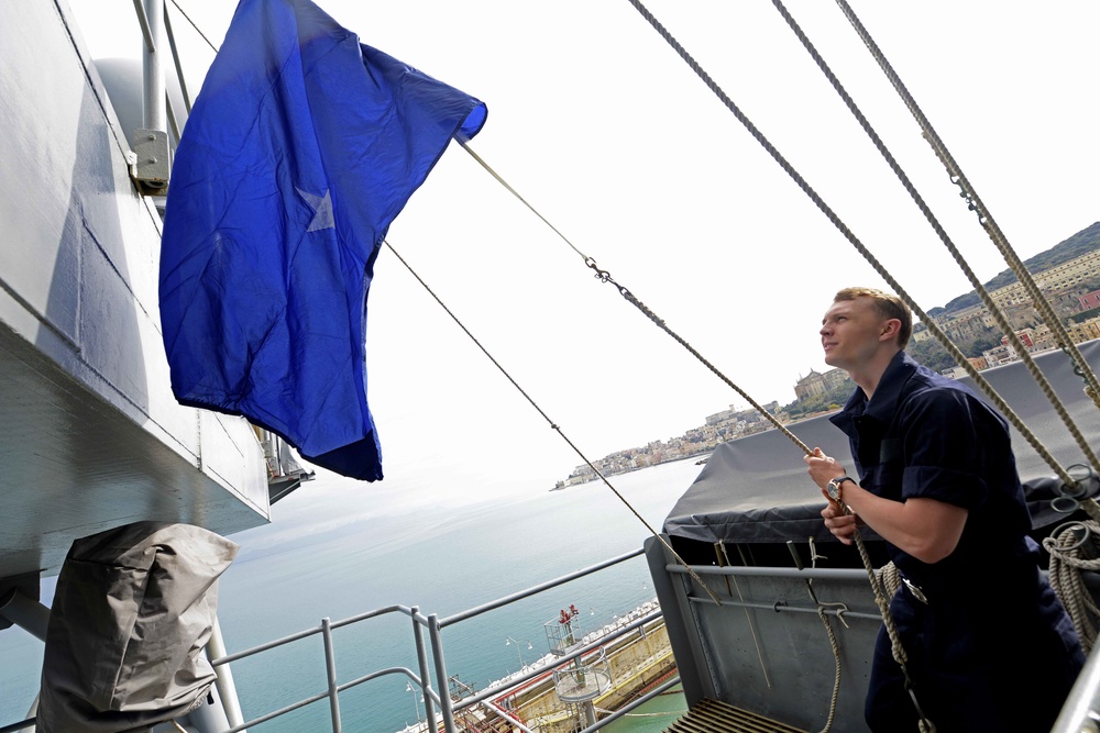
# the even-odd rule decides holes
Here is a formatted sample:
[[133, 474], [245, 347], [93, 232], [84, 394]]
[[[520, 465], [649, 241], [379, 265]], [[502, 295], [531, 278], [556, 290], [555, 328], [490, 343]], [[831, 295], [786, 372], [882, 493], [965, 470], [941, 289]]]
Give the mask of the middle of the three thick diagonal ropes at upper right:
[[902, 186], [913, 198], [913, 201], [916, 203], [917, 208], [924, 214], [924, 218], [932, 225], [932, 229], [935, 230], [936, 234], [944, 243], [944, 246], [947, 247], [947, 251], [950, 253], [952, 257], [955, 259], [959, 268], [963, 270], [967, 279], [970, 281], [970, 285], [974, 286], [975, 291], [981, 299], [981, 302], [993, 315], [993, 319], [997, 321], [997, 325], [1009, 338], [1010, 343], [1012, 344], [1012, 348], [1016, 352], [1016, 354], [1020, 355], [1021, 360], [1024, 363], [1024, 366], [1027, 368], [1027, 371], [1031, 374], [1032, 378], [1034, 378], [1036, 384], [1038, 384], [1040, 389], [1043, 391], [1043, 395], [1046, 396], [1047, 400], [1049, 400], [1050, 404], [1055, 409], [1055, 412], [1057, 412], [1058, 417], [1062, 418], [1063, 423], [1065, 423], [1066, 427], [1069, 430], [1069, 433], [1077, 441], [1077, 445], [1080, 447], [1081, 453], [1084, 453], [1085, 456], [1089, 459], [1089, 463], [1092, 464], [1093, 468], [1100, 470], [1100, 459], [1097, 458], [1096, 454], [1092, 451], [1092, 447], [1089, 445], [1088, 441], [1085, 440], [1085, 436], [1081, 434], [1081, 431], [1077, 426], [1077, 423], [1074, 422], [1072, 418], [1070, 418], [1068, 411], [1066, 410], [1065, 404], [1058, 398], [1057, 393], [1055, 393], [1054, 387], [1047, 380], [1046, 376], [1040, 370], [1038, 366], [1035, 364], [1035, 360], [1032, 358], [1031, 352], [1028, 352], [1024, 347], [1023, 343], [1020, 341], [1020, 336], [1016, 335], [1016, 332], [1009, 324], [1008, 319], [1004, 316], [1004, 312], [990, 297], [989, 291], [986, 290], [986, 287], [981, 284], [981, 280], [978, 279], [978, 276], [975, 275], [974, 270], [967, 264], [966, 258], [963, 256], [963, 253], [960, 253], [958, 251], [958, 247], [955, 246], [955, 243], [948, 236], [947, 232], [939, 223], [939, 220], [932, 212], [932, 209], [928, 208], [928, 204], [921, 197], [920, 192], [916, 190], [916, 187], [910, 180], [909, 176], [902, 169], [901, 165], [887, 148], [886, 143], [883, 143], [882, 138], [871, 126], [867, 118], [864, 116], [864, 113], [859, 110], [859, 107], [856, 104], [855, 100], [851, 99], [847, 90], [845, 90], [844, 85], [842, 85], [840, 80], [836, 77], [835, 74], [833, 74], [833, 70], [829, 68], [828, 64], [817, 52], [817, 48], [814, 47], [813, 43], [810, 41], [810, 37], [806, 36], [802, 27], [799, 26], [798, 22], [788, 11], [782, 0], [772, 0], [772, 4], [776, 5], [776, 9], [783, 16], [783, 20], [787, 21], [787, 24], [791, 27], [794, 34], [799, 37], [799, 41], [802, 42], [803, 47], [805, 47], [806, 52], [809, 52], [810, 55], [813, 57], [814, 62], [817, 64], [817, 67], [828, 79], [829, 84], [833, 85], [833, 89], [837, 92], [840, 99], [844, 100], [844, 103], [848, 107], [848, 110], [859, 122], [859, 125], [864, 129], [864, 132], [866, 132], [868, 137], [870, 137], [871, 142], [875, 144], [875, 147], [879, 151], [879, 153], [886, 159], [887, 164], [890, 166], [890, 169], [894, 171], [894, 175], [898, 177], [898, 180], [901, 181]]

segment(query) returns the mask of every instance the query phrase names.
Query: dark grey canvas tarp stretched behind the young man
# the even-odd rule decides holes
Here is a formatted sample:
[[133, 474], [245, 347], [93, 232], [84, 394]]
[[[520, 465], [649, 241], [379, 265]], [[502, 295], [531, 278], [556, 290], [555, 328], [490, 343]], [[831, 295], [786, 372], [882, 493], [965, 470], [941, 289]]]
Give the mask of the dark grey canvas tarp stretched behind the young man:
[[[1079, 346], [1093, 370], [1100, 368], [1100, 341]], [[1070, 418], [1093, 451], [1100, 445], [1100, 410], [1084, 392], [1084, 381], [1060, 351], [1035, 356]], [[1066, 469], [1088, 464], [1072, 434], [1021, 362], [981, 373], [1038, 442]], [[967, 377], [963, 381], [974, 387]], [[976, 390], [983, 396], [981, 390]], [[821, 447], [855, 473], [848, 440], [825, 415], [788, 425], [811, 448]], [[1018, 432], [1012, 446], [1036, 527], [1052, 526], [1068, 514], [1050, 508], [1060, 481], [1054, 469]], [[803, 451], [778, 430], [722, 443], [664, 521], [672, 537], [706, 543], [779, 543], [831, 540], [821, 519], [825, 500], [806, 475]], [[1077, 469], [1074, 469], [1076, 474]], [[1094, 495], [1096, 482], [1089, 485]], [[869, 531], [867, 538], [876, 538]]]

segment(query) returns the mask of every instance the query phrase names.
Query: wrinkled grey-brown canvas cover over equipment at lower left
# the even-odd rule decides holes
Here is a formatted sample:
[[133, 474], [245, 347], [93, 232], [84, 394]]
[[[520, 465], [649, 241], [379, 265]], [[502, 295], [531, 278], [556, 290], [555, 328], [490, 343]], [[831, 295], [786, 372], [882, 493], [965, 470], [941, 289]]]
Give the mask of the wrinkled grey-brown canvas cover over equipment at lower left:
[[37, 730], [146, 731], [201, 704], [218, 577], [238, 545], [136, 522], [73, 543], [46, 631]]

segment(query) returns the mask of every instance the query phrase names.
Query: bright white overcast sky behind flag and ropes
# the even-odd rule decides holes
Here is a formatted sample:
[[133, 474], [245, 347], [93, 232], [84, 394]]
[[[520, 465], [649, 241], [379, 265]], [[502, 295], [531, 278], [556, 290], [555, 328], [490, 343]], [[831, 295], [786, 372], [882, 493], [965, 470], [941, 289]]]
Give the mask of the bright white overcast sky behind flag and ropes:
[[[140, 52], [131, 0], [69, 2], [94, 56]], [[220, 44], [233, 3], [179, 2]], [[759, 402], [826, 368], [837, 289], [882, 286], [627, 0], [319, 4], [486, 102], [472, 147]], [[1100, 220], [1100, 3], [853, 5], [1022, 258]], [[771, 3], [647, 7], [922, 308], [970, 290]], [[1004, 269], [839, 10], [788, 7], [982, 281]], [[194, 95], [212, 52], [172, 18]], [[591, 458], [746, 407], [457, 145], [388, 240]], [[581, 463], [385, 251], [370, 309], [380, 491], [538, 491]]]

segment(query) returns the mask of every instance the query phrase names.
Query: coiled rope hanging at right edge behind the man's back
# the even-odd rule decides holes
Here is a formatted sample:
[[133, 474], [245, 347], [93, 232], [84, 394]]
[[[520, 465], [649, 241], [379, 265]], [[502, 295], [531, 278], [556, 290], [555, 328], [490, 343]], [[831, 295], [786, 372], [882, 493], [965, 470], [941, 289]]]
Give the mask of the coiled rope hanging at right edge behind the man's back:
[[1094, 554], [1098, 541], [1100, 523], [1094, 520], [1067, 522], [1043, 538], [1043, 547], [1050, 554], [1050, 587], [1069, 612], [1086, 654], [1096, 644], [1100, 608], [1085, 587], [1081, 570], [1100, 570], [1100, 559], [1088, 557]]

